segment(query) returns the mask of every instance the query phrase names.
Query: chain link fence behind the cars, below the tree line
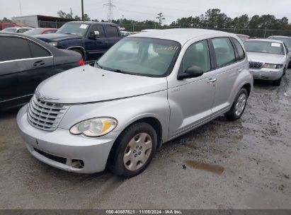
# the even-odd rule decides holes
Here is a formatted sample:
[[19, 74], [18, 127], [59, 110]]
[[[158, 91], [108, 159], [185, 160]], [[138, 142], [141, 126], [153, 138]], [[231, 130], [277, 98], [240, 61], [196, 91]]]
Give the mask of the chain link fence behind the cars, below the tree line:
[[[160, 25], [120, 25], [121, 28], [125, 28], [127, 31], [139, 32], [145, 29], [169, 29], [169, 28], [191, 28], [187, 26], [160, 26]], [[250, 37], [266, 38], [271, 35], [283, 35], [291, 36], [291, 30], [269, 30], [269, 29], [238, 29], [238, 28], [205, 28], [212, 30], [222, 30], [229, 33], [236, 33], [241, 35], [249, 35]]]

